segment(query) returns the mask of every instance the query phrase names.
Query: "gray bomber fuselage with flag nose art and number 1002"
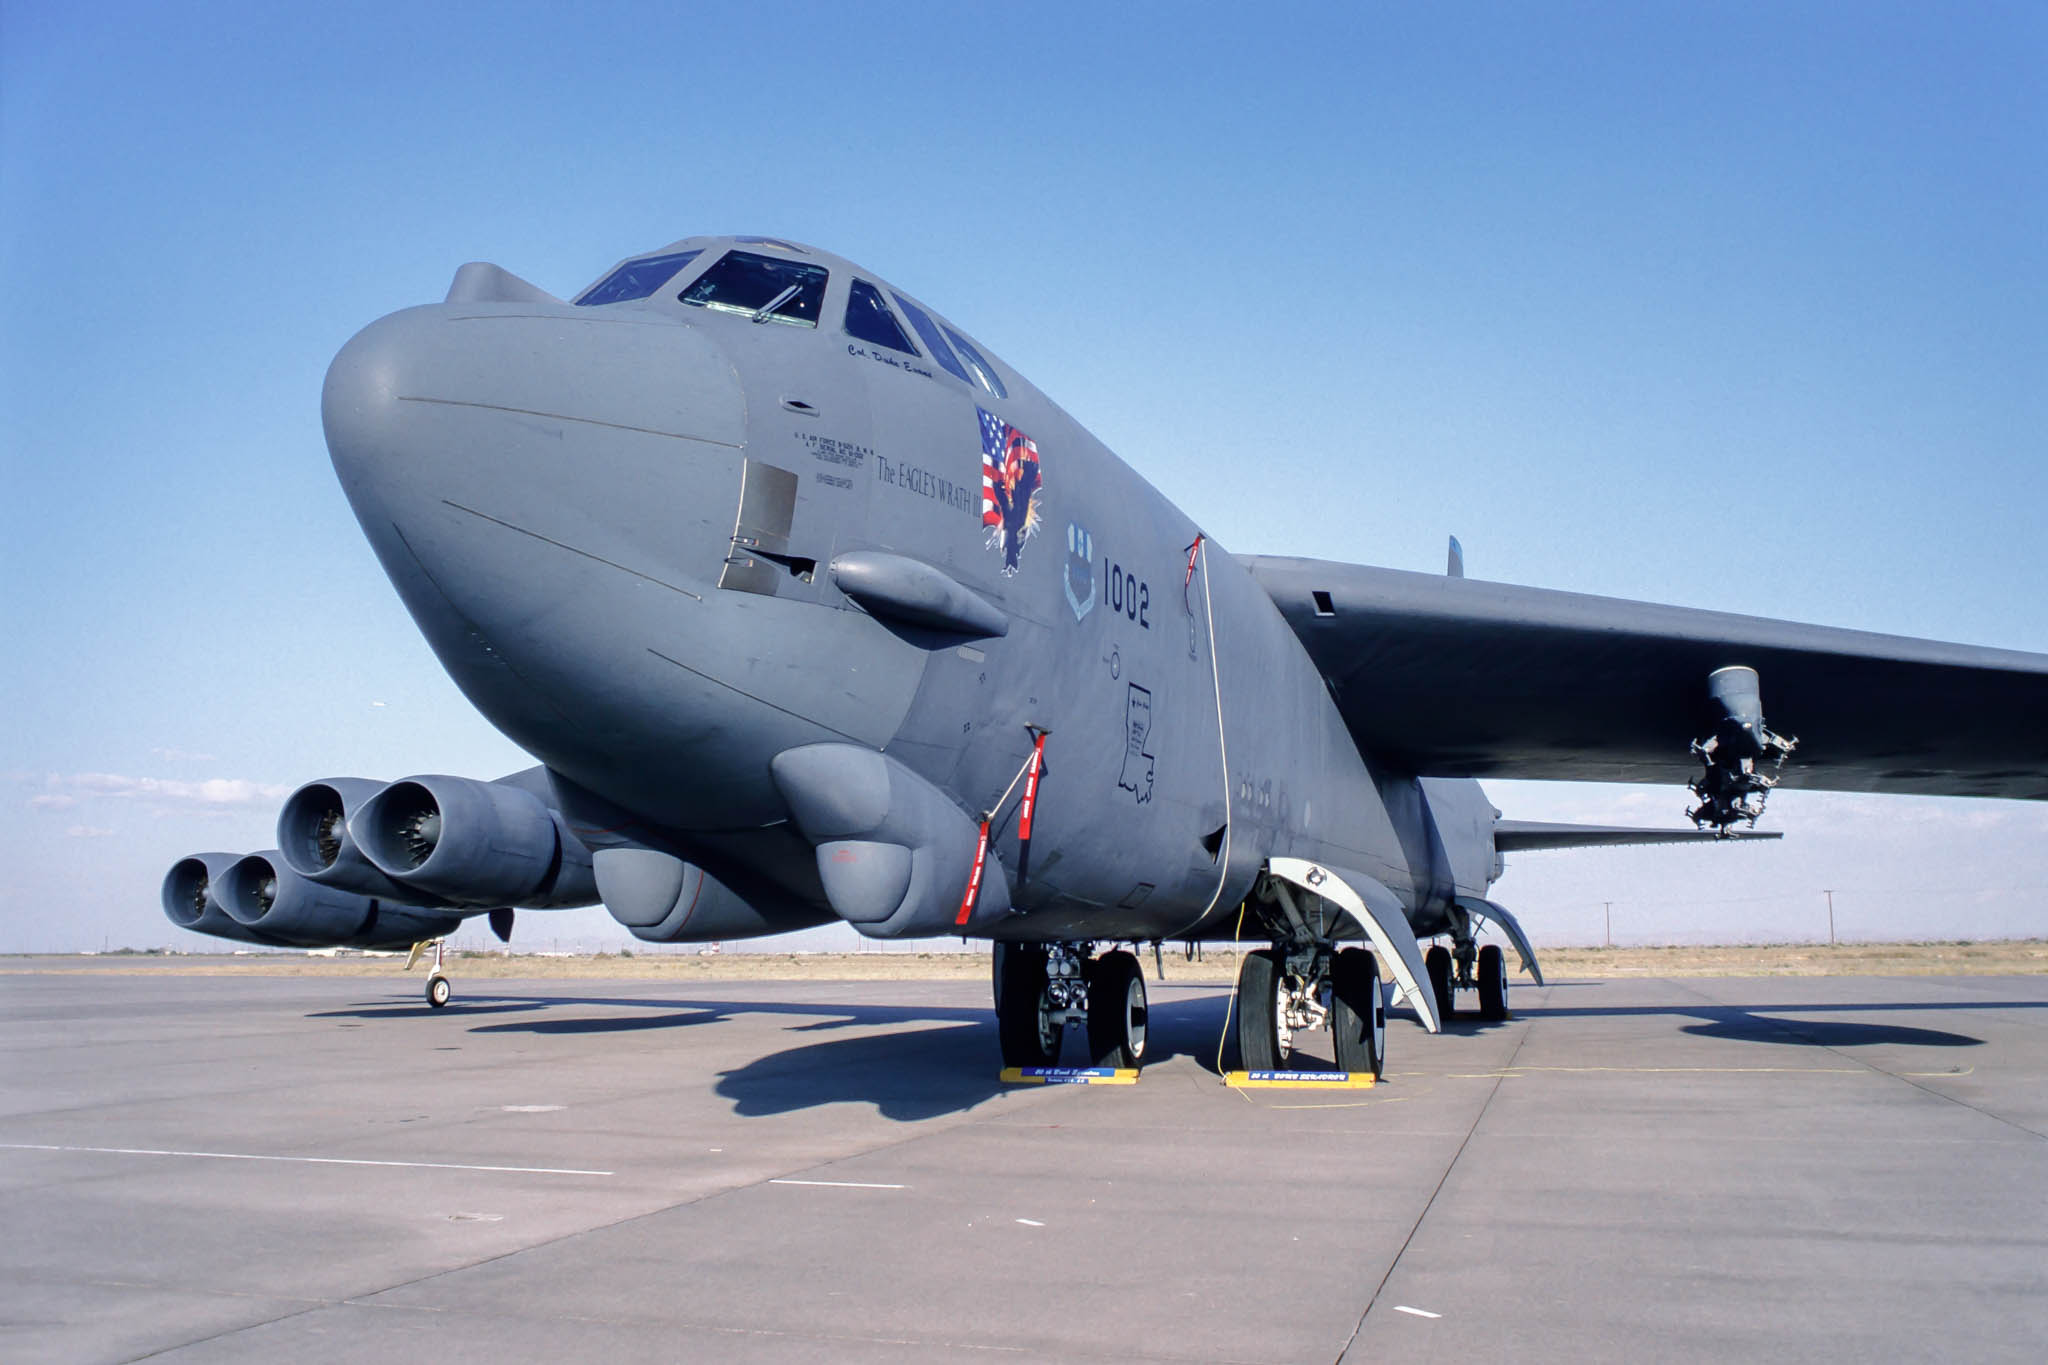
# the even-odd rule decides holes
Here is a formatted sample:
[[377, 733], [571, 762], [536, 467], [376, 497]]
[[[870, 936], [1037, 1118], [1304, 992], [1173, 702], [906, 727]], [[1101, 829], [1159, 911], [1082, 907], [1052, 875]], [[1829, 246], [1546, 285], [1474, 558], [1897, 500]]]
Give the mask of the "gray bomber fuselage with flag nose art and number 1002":
[[[735, 241], [827, 272], [809, 325], [682, 301]], [[1012, 913], [977, 935], [1229, 935], [1272, 855], [1382, 882], [1419, 933], [1485, 894], [1479, 786], [1376, 769], [1243, 565], [1026, 379], [920, 309], [989, 379], [938, 364], [915, 301], [840, 258], [666, 248], [690, 250], [643, 299], [459, 289], [393, 313], [324, 395], [420, 630], [590, 847], [686, 857], [772, 925], [827, 919], [770, 763], [840, 743], [997, 810]], [[911, 319], [915, 356], [848, 332], [856, 280]], [[850, 555], [936, 569], [1001, 632], [856, 602]], [[1018, 880], [1001, 798], [1030, 726]]]

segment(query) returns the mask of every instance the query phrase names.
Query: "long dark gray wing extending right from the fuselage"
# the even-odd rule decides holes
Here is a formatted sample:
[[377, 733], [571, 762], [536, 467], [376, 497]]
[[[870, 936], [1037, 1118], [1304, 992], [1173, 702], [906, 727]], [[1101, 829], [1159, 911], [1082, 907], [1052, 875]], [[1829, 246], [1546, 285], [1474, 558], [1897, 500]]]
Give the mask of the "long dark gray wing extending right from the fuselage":
[[2048, 800], [2048, 655], [1255, 557], [1360, 749], [1421, 776], [1686, 782], [1757, 671], [1788, 788]]

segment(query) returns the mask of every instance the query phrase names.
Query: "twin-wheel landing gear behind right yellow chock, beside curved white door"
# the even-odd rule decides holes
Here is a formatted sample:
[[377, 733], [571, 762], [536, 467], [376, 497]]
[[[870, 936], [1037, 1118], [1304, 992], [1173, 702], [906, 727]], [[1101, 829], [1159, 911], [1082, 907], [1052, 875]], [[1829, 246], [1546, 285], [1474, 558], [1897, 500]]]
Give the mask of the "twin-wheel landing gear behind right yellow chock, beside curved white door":
[[1235, 1013], [1245, 1070], [1286, 1070], [1300, 1036], [1323, 1027], [1337, 1070], [1374, 1081], [1386, 1070], [1386, 997], [1380, 964], [1364, 948], [1292, 941], [1245, 954]]

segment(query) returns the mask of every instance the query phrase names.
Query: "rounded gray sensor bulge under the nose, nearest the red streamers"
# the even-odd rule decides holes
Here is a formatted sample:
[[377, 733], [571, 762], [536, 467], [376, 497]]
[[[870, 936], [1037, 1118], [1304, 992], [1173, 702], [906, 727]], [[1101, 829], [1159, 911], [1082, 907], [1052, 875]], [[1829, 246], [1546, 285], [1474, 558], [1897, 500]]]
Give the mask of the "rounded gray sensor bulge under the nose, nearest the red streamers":
[[965, 923], [961, 902], [981, 831], [952, 798], [889, 755], [858, 745], [784, 749], [770, 763], [840, 919], [868, 937], [987, 931], [1010, 913], [989, 855]]

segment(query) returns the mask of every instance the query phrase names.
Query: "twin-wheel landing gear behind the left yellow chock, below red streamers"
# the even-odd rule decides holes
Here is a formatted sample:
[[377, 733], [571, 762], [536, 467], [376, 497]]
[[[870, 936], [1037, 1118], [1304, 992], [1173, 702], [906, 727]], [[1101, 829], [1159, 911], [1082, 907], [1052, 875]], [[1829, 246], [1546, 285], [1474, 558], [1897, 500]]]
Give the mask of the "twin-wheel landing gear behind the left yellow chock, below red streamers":
[[995, 1031], [1004, 1066], [1057, 1066], [1069, 1023], [1087, 1027], [1087, 1064], [1145, 1062], [1145, 972], [1137, 954], [1094, 943], [997, 943]]

